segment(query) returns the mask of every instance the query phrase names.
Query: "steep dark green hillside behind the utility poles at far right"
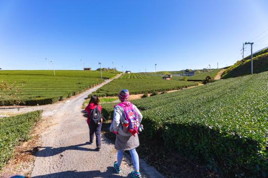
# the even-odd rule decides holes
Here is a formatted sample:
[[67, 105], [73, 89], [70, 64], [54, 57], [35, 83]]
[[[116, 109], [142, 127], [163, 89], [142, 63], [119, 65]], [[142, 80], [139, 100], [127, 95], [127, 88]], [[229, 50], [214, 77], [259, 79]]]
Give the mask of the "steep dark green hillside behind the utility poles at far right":
[[[268, 49], [262, 50], [254, 55], [253, 73], [268, 71]], [[244, 61], [237, 61], [233, 66], [223, 72], [222, 78], [230, 78], [251, 74], [251, 58], [246, 57]]]

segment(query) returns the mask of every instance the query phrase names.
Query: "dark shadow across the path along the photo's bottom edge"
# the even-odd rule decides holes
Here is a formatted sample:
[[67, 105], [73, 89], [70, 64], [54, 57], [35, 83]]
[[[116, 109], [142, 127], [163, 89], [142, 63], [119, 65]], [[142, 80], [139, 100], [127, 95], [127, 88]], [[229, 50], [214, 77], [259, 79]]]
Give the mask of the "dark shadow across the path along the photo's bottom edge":
[[[35, 176], [32, 178], [126, 178], [115, 174], [113, 167], [108, 167], [106, 172], [101, 173], [100, 171], [65, 171], [60, 173], [52, 173], [43, 176]], [[127, 178], [131, 178], [129, 175]]]

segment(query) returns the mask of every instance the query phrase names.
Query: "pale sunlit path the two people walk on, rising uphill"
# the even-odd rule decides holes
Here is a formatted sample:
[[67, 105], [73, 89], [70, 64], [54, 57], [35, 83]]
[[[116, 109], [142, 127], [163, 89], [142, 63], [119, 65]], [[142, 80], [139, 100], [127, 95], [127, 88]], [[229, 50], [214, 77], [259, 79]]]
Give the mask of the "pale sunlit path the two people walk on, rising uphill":
[[[109, 140], [102, 137], [102, 150], [100, 151], [96, 151], [95, 142], [89, 144], [89, 128], [81, 106], [91, 92], [104, 84], [74, 97], [68, 103], [40, 106], [40, 109], [44, 109], [44, 116], [52, 116], [53, 126], [42, 133], [43, 145], [35, 155], [32, 178], [130, 177], [129, 174], [134, 168], [128, 156], [122, 162], [122, 173], [115, 174], [113, 163], [117, 155], [114, 145]], [[35, 109], [38, 107], [26, 107], [20, 110], [25, 112]], [[17, 112], [16, 109], [9, 109], [8, 112], [12, 111]], [[142, 178], [162, 177], [144, 162], [142, 167], [149, 170], [149, 174], [146, 175], [144, 169], [141, 169]]]

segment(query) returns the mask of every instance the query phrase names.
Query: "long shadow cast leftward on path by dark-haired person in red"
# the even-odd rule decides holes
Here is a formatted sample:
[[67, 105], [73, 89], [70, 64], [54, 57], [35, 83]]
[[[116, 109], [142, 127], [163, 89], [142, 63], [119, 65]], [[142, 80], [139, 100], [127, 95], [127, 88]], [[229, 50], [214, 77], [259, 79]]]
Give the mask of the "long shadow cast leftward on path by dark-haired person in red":
[[[45, 146], [45, 147], [37, 146], [33, 148], [33, 150], [27, 150], [25, 152], [30, 152], [32, 155], [36, 157], [49, 157], [49, 156], [60, 154], [65, 150], [97, 151], [96, 149], [80, 147], [80, 146], [84, 146], [87, 144], [89, 144], [89, 142], [85, 142], [85, 143], [77, 144], [77, 145], [71, 145], [71, 146], [63, 146], [63, 147], [58, 147], [58, 148], [54, 148], [51, 146]], [[44, 148], [44, 149], [39, 150], [39, 148]]]

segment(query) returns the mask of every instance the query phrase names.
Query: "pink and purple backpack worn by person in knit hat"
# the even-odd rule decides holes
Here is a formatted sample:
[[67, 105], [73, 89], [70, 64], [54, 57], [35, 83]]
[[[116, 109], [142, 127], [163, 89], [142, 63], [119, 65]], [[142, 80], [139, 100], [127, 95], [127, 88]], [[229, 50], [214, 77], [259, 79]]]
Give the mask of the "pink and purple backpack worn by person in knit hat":
[[131, 133], [133, 136], [135, 133], [138, 133], [139, 128], [139, 118], [138, 113], [133, 107], [133, 104], [131, 103], [130, 106], [126, 106], [122, 103], [118, 104], [118, 106], [123, 107], [125, 111], [125, 120], [129, 122], [129, 133]]

